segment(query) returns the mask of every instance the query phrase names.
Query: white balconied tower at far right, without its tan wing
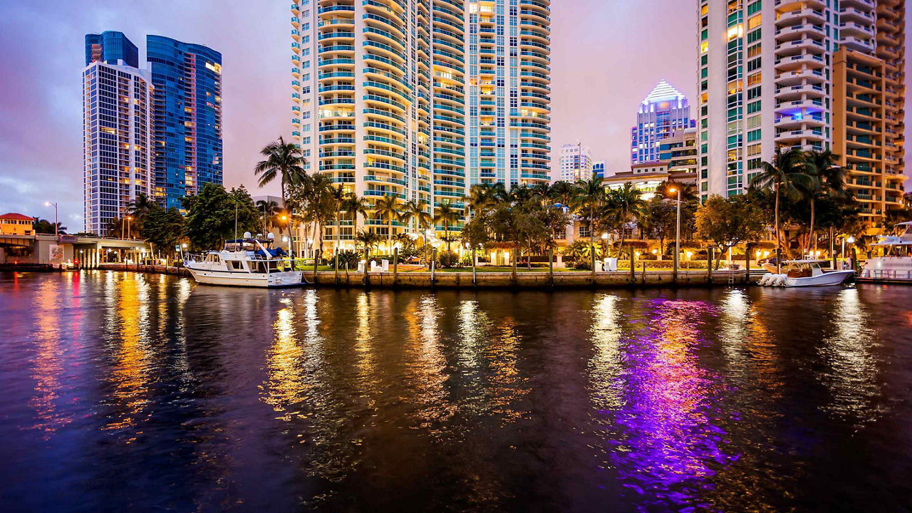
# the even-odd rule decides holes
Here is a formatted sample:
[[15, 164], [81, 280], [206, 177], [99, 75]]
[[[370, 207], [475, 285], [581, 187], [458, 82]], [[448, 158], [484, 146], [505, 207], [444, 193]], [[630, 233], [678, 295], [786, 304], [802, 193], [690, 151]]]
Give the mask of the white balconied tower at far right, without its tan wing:
[[[880, 13], [904, 10], [901, 4], [701, 0], [701, 196], [741, 194], [778, 146], [831, 147], [834, 55], [841, 47], [875, 54]], [[884, 115], [884, 106], [875, 103], [855, 107]]]

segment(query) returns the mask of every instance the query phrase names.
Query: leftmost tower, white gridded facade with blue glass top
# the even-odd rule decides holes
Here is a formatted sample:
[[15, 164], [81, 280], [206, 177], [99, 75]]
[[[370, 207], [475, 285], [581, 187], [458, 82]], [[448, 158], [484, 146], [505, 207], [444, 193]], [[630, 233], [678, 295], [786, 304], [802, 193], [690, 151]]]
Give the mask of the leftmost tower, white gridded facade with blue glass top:
[[152, 86], [149, 72], [136, 68], [135, 55], [136, 47], [118, 32], [86, 37], [84, 229], [98, 235], [138, 194], [152, 192]]

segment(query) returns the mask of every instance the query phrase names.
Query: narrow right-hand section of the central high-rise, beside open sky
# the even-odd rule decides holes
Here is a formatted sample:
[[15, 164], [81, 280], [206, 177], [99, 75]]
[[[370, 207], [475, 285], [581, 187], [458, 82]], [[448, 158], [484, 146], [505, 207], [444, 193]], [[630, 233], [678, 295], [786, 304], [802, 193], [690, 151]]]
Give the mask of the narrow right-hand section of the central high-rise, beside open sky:
[[549, 4], [466, 2], [471, 183], [549, 180]]

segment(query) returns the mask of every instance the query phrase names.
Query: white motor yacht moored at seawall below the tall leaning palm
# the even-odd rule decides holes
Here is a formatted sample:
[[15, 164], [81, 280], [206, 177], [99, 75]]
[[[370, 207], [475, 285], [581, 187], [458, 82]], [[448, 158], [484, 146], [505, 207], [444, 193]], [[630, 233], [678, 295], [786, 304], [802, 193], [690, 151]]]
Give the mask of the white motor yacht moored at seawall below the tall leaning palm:
[[183, 265], [197, 283], [233, 287], [296, 287], [301, 285], [301, 271], [290, 270], [291, 264], [281, 247], [272, 246], [272, 234], [260, 240], [245, 233], [243, 239], [230, 240], [222, 251], [191, 255]]

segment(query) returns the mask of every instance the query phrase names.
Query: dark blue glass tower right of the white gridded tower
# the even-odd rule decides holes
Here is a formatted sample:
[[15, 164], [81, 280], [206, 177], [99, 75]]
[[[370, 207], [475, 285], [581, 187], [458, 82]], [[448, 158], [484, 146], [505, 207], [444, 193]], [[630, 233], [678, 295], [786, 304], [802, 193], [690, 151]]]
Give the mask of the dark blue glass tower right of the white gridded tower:
[[203, 183], [222, 183], [222, 54], [146, 37], [155, 86], [155, 197], [181, 209]]

